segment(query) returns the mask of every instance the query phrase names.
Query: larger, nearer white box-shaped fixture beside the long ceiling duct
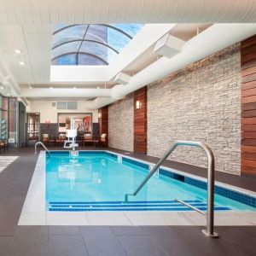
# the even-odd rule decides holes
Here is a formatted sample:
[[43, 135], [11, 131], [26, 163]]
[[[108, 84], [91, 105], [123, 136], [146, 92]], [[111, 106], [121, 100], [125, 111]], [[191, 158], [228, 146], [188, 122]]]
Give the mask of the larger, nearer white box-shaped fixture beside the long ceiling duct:
[[184, 44], [183, 40], [166, 34], [156, 42], [154, 52], [158, 55], [172, 58], [182, 51]]

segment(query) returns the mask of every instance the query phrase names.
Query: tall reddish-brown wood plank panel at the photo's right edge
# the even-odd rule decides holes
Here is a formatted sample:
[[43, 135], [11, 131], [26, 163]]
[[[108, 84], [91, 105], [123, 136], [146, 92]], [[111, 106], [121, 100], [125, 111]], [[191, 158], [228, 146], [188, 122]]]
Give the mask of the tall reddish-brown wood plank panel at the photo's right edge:
[[241, 42], [241, 174], [256, 176], [256, 35]]

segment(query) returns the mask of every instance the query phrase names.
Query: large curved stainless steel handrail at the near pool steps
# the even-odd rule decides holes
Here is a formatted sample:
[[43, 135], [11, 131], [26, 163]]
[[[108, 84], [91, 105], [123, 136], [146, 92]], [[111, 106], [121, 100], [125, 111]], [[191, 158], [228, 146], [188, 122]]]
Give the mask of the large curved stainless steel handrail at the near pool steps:
[[172, 152], [178, 147], [178, 146], [189, 146], [189, 147], [196, 147], [201, 148], [206, 154], [207, 154], [207, 213], [201, 211], [200, 209], [193, 207], [189, 205], [188, 203], [176, 199], [175, 201], [178, 201], [185, 205], [186, 207], [189, 207], [196, 212], [201, 213], [207, 218], [207, 230], [202, 230], [202, 232], [206, 236], [211, 237], [218, 237], [218, 234], [214, 232], [214, 167], [215, 167], [215, 161], [214, 161], [214, 155], [212, 153], [211, 148], [209, 148], [205, 143], [200, 142], [193, 142], [193, 141], [176, 141], [172, 143], [171, 147], [166, 150], [166, 153], [163, 154], [163, 156], [160, 158], [160, 160], [156, 163], [156, 165], [152, 168], [152, 170], [148, 173], [148, 176], [143, 179], [143, 182], [140, 183], [137, 187], [137, 189], [132, 194], [126, 194], [125, 195], [125, 201], [128, 201], [128, 196], [135, 196], [137, 193], [143, 189], [143, 186], [148, 182], [148, 179], [154, 175], [154, 172], [157, 172], [159, 167], [164, 163], [164, 161], [167, 159], [167, 157], [172, 154]]

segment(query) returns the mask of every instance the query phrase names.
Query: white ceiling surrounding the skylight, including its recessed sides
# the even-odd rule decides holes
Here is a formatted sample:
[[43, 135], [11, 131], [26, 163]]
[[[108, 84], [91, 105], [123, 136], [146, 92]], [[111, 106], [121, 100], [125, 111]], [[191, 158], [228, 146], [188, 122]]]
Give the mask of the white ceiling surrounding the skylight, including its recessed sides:
[[[48, 97], [88, 100], [102, 96], [97, 88], [113, 88], [117, 84], [114, 77], [119, 72], [132, 77], [158, 61], [162, 56], [154, 53], [154, 45], [166, 33], [188, 41], [209, 26], [212, 25], [147, 24], [108, 66], [50, 66], [52, 26], [4, 25], [0, 26], [0, 61], [19, 86], [13, 96], [34, 100]], [[16, 54], [15, 49], [20, 49], [21, 53]], [[20, 66], [20, 61], [25, 65]], [[49, 90], [49, 87], [56, 90]], [[77, 90], [73, 90], [74, 87]]]

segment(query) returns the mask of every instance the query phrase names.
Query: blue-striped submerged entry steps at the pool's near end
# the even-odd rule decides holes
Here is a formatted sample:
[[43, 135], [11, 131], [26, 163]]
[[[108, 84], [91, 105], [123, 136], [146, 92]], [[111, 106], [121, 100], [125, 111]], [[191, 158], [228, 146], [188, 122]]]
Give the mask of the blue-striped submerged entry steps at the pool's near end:
[[[199, 200], [185, 201], [201, 211], [207, 210], [207, 204]], [[230, 210], [229, 207], [214, 207], [217, 211]], [[98, 201], [98, 202], [49, 202], [49, 212], [97, 212], [97, 211], [169, 211], [187, 212], [191, 207], [177, 201]]]

